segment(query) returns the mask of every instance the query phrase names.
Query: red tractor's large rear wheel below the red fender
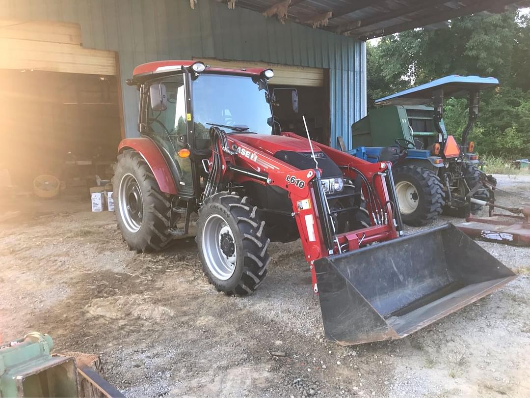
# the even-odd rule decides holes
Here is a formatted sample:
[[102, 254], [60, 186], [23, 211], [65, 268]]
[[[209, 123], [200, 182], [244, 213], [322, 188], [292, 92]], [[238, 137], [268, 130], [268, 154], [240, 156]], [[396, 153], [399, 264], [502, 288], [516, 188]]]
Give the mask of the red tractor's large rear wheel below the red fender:
[[[137, 207], [134, 217], [128, 199], [134, 195], [126, 194], [129, 183], [137, 186], [131, 189], [137, 196], [130, 200], [135, 202], [132, 207]], [[125, 150], [118, 155], [112, 184], [114, 212], [129, 249], [149, 253], [166, 247], [172, 239], [169, 233], [171, 198], [160, 191], [151, 168], [138, 152]]]

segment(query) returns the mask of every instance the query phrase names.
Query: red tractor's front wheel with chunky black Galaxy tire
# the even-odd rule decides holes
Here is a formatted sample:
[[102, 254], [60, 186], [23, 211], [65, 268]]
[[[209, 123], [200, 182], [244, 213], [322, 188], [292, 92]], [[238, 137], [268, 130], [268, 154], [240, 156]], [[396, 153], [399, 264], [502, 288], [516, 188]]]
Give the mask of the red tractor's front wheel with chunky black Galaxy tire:
[[[259, 218], [257, 210], [257, 206], [250, 204], [249, 197], [242, 198], [229, 192], [210, 196], [199, 209], [195, 240], [202, 270], [218, 291], [229, 296], [250, 295], [267, 276], [270, 262], [267, 247], [270, 239], [263, 232], [265, 222]], [[215, 228], [211, 227], [213, 222], [221, 222], [223, 225], [219, 236], [214, 232]], [[224, 232], [223, 235], [223, 230], [229, 231], [229, 234]], [[217, 248], [222, 251], [213, 255], [212, 252], [217, 253]], [[223, 256], [226, 256], [226, 260], [230, 256], [232, 265], [223, 265]], [[233, 270], [227, 271], [231, 266]]]

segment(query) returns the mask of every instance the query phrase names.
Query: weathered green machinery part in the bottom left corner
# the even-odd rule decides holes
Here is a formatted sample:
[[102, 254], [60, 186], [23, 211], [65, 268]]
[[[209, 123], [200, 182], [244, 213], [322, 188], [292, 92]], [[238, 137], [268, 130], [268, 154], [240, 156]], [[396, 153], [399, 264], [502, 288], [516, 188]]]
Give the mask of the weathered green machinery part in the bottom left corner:
[[32, 332], [0, 345], [0, 396], [77, 397], [73, 357], [52, 356], [53, 341]]

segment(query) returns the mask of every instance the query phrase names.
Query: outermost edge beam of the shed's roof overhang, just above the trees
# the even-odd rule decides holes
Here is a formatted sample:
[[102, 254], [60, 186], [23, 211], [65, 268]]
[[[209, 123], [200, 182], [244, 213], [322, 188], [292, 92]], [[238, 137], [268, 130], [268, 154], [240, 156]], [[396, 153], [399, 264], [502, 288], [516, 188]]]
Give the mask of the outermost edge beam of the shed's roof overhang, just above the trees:
[[405, 30], [411, 30], [415, 28], [421, 28], [432, 23], [447, 21], [449, 19], [458, 18], [459, 16], [471, 15], [481, 11], [489, 10], [489, 8], [497, 7], [499, 5], [512, 4], [513, 0], [487, 0], [478, 1], [472, 5], [456, 8], [451, 11], [439, 12], [437, 14], [431, 14], [423, 17], [422, 19], [410, 22], [403, 22], [383, 29], [378, 29], [372, 32], [366, 32], [359, 34], [360, 40], [373, 39], [375, 37], [387, 36], [388, 34], [394, 34], [404, 32]]

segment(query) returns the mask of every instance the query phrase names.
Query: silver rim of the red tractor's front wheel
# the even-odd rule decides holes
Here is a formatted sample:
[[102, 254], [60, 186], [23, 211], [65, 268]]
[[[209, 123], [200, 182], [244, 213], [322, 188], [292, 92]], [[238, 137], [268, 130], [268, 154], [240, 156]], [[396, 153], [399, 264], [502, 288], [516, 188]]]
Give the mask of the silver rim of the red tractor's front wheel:
[[234, 233], [219, 214], [210, 214], [204, 222], [201, 250], [206, 266], [219, 280], [230, 279], [237, 262], [237, 247]]

